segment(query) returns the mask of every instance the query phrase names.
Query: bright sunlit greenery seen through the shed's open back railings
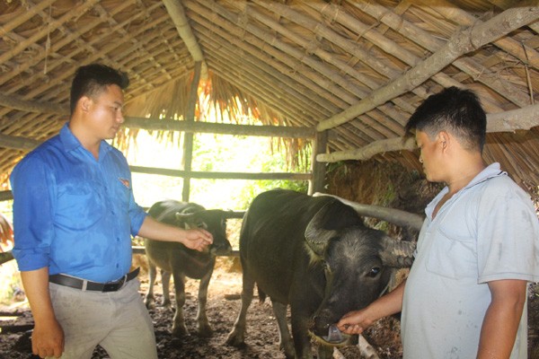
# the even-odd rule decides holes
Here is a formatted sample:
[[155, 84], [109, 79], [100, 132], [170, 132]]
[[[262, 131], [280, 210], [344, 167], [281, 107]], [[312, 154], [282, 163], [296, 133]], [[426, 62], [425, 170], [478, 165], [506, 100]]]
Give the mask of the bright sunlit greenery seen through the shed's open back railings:
[[[137, 138], [137, 153], [128, 153], [132, 165], [181, 168], [178, 144], [159, 144], [149, 137]], [[192, 171], [287, 172], [287, 153], [276, 139], [260, 136], [197, 134], [193, 137]], [[276, 148], [279, 151], [276, 151]], [[304, 153], [305, 154], [305, 153]], [[307, 153], [308, 154], [308, 153]], [[297, 172], [309, 171], [310, 163], [298, 161]], [[151, 206], [166, 198], [181, 200], [183, 180], [159, 175], [133, 173], [135, 198], [141, 206]], [[207, 208], [243, 210], [252, 198], [272, 188], [306, 192], [307, 181], [294, 180], [190, 180], [190, 201]]]

